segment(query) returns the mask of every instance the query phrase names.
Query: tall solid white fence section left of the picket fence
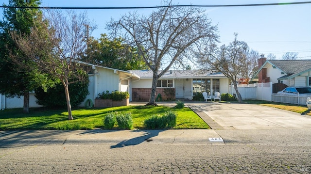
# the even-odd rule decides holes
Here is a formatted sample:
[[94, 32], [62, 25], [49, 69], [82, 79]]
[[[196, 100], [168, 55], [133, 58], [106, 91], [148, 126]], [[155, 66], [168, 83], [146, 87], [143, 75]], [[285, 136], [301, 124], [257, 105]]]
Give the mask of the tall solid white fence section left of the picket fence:
[[[236, 94], [233, 85], [231, 85], [232, 94]], [[272, 82], [254, 83], [238, 85], [238, 91], [243, 100], [265, 100], [271, 101]]]

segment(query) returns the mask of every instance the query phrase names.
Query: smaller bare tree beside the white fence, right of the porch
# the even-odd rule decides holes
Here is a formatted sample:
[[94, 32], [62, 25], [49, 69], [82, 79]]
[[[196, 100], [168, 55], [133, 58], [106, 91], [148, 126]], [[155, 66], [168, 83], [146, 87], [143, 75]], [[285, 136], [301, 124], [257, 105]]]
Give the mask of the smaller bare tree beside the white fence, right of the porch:
[[198, 62], [206, 70], [222, 72], [231, 80], [238, 96], [239, 102], [242, 102], [242, 96], [238, 90], [237, 79], [250, 79], [258, 70], [257, 51], [250, 50], [248, 45], [235, 38], [228, 46], [217, 47], [211, 45], [206, 52], [201, 52]]

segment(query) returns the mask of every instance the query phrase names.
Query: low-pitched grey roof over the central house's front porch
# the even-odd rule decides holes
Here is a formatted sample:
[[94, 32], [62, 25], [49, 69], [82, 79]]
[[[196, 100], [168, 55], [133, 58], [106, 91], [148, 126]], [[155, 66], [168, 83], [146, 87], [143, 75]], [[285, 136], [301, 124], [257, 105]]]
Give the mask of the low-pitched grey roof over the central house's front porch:
[[[141, 79], [152, 79], [152, 70], [131, 70], [130, 72], [138, 75]], [[159, 70], [158, 73], [161, 73]], [[223, 73], [212, 73], [202, 70], [168, 70], [160, 79], [185, 79], [185, 78], [226, 78]]]

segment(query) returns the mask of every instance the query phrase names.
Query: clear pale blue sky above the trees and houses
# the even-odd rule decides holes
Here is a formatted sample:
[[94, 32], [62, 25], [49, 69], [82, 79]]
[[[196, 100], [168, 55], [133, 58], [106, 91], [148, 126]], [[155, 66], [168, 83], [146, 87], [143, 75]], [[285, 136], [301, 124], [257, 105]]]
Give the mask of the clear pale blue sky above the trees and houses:
[[[235, 5], [307, 0], [172, 0], [175, 5]], [[160, 6], [162, 0], [41, 0], [49, 7], [141, 7]], [[0, 0], [0, 4], [8, 0]], [[311, 60], [311, 3], [273, 6], [203, 7], [213, 25], [218, 26], [219, 46], [228, 45], [238, 33], [238, 40], [257, 50], [281, 59], [285, 52], [297, 52], [298, 59]], [[129, 11], [148, 16], [156, 9], [100, 9], [87, 10], [89, 19], [97, 24], [91, 36], [99, 38], [107, 33], [105, 25], [111, 18], [118, 20]], [[79, 12], [79, 10], [76, 10]], [[84, 11], [84, 10], [83, 10]], [[2, 19], [3, 9], [0, 9]]]

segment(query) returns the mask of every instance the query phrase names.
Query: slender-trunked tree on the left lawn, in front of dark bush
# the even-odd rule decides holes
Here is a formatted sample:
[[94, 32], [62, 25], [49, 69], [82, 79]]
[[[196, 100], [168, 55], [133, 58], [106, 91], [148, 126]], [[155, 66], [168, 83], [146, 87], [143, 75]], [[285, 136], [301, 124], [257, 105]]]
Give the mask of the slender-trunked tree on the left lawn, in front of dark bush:
[[[86, 48], [85, 26], [90, 26], [86, 13], [48, 11], [48, 17], [29, 36], [12, 32], [18, 47], [39, 67], [64, 85], [68, 119], [72, 120], [69, 84], [84, 80], [85, 70], [76, 61]], [[89, 32], [96, 26], [89, 28]]]

